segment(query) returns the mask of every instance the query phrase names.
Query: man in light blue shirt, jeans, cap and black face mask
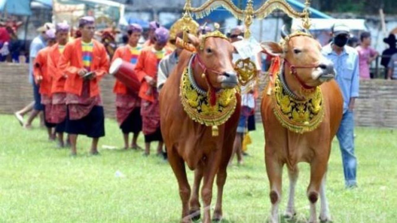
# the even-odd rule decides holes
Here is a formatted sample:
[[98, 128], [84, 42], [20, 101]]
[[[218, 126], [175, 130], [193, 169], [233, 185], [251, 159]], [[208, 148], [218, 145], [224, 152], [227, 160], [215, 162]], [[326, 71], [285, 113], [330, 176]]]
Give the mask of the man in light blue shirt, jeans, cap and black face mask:
[[336, 70], [336, 81], [343, 95], [343, 118], [337, 138], [342, 154], [343, 172], [347, 188], [357, 186], [357, 158], [354, 153], [354, 103], [358, 97], [359, 69], [358, 52], [346, 46], [350, 29], [343, 24], [335, 24], [333, 40], [322, 49], [322, 54], [330, 59]]

